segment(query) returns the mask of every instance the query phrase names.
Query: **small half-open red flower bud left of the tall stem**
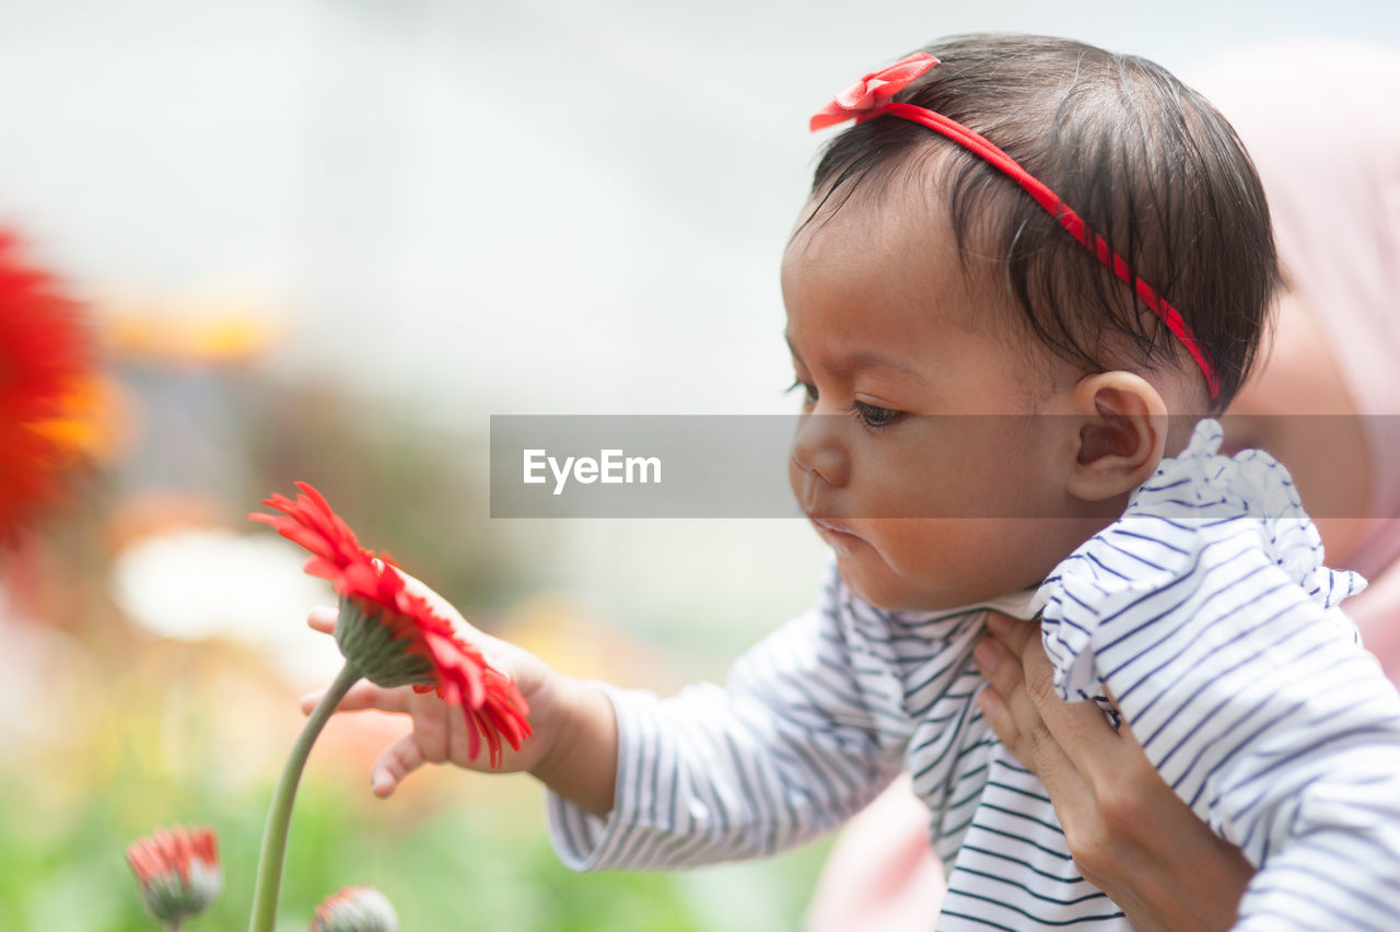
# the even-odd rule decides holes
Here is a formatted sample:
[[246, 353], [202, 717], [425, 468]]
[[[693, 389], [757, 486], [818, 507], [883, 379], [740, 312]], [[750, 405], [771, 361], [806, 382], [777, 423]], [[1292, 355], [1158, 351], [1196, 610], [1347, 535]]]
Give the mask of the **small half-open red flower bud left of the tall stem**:
[[223, 886], [218, 849], [209, 828], [157, 828], [126, 848], [141, 901], [157, 922], [179, 926], [209, 908]]

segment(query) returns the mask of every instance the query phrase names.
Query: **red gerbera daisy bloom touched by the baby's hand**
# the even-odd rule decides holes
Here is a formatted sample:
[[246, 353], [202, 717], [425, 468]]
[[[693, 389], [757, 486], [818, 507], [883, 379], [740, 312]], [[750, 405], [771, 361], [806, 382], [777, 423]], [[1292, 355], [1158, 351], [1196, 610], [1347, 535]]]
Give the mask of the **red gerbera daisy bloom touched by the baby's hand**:
[[336, 642], [346, 661], [377, 686], [437, 690], [445, 702], [461, 705], [470, 756], [476, 757], [484, 737], [491, 767], [500, 767], [501, 739], [519, 750], [531, 735], [525, 697], [426, 598], [409, 591], [386, 556], [361, 547], [321, 493], [307, 483], [297, 488], [302, 494], [295, 500], [273, 495], [263, 501], [283, 515], [249, 518], [309, 550], [307, 572], [335, 585], [340, 596]]

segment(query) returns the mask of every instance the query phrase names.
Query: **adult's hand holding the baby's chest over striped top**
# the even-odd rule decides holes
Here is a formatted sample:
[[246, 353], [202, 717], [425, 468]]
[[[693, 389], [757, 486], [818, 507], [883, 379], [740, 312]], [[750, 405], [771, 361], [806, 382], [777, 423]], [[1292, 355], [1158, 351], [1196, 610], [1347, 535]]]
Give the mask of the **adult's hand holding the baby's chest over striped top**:
[[981, 712], [1050, 793], [1084, 877], [1138, 929], [1229, 929], [1254, 868], [1166, 785], [1124, 722], [1067, 702], [1036, 621], [1000, 614], [976, 648]]

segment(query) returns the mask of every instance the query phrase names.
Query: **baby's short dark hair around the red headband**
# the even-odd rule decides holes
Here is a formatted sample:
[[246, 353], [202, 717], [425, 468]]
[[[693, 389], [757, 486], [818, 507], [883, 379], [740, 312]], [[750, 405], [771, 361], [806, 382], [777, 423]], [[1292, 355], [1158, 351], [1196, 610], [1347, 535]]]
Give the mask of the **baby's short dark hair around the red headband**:
[[[981, 133], [1078, 211], [1182, 313], [1215, 368], [1222, 410], [1249, 374], [1278, 284], [1264, 190], [1233, 129], [1161, 66], [1081, 42], [969, 35], [924, 52], [941, 63], [895, 99]], [[844, 200], [934, 153], [959, 249], [1000, 259], [1040, 341], [1089, 372], [1117, 368], [1105, 361], [1112, 351], [1145, 368], [1184, 358], [1141, 299], [1015, 182], [924, 126], [879, 116], [844, 130], [812, 190], [822, 204], [837, 192]]]

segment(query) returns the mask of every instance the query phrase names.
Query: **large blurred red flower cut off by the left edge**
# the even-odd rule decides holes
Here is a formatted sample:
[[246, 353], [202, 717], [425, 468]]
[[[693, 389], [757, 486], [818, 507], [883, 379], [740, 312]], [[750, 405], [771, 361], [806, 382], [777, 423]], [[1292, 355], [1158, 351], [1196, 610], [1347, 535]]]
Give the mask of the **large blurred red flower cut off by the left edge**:
[[0, 542], [56, 498], [66, 449], [52, 425], [92, 364], [77, 305], [17, 252], [0, 231]]

